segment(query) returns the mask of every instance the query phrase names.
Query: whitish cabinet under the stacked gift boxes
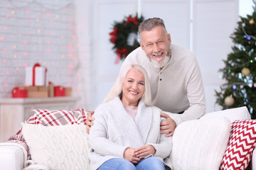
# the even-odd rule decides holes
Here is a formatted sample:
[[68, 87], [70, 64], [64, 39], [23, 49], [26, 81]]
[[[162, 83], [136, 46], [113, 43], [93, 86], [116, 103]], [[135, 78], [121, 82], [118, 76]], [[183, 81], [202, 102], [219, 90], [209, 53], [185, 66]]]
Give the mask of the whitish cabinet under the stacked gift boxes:
[[77, 97], [54, 98], [1, 98], [0, 99], [0, 142], [6, 142], [21, 128], [33, 109], [73, 110]]

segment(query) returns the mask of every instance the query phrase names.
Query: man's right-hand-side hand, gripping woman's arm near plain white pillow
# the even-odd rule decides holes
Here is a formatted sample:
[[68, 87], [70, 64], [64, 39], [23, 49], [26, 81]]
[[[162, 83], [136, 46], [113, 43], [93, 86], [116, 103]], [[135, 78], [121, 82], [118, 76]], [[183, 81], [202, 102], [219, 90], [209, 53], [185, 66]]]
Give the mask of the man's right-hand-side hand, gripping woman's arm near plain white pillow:
[[171, 137], [174, 135], [174, 130], [176, 128], [175, 121], [169, 117], [166, 113], [161, 113], [161, 117], [166, 118], [166, 121], [160, 124], [161, 134], [166, 134], [166, 137]]

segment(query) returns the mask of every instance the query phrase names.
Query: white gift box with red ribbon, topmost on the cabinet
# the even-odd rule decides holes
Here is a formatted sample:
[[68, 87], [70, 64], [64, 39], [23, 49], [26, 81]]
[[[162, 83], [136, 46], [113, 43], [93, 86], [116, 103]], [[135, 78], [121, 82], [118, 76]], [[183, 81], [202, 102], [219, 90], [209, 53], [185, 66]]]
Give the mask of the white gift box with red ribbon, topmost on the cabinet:
[[26, 86], [47, 86], [47, 68], [39, 63], [26, 67]]

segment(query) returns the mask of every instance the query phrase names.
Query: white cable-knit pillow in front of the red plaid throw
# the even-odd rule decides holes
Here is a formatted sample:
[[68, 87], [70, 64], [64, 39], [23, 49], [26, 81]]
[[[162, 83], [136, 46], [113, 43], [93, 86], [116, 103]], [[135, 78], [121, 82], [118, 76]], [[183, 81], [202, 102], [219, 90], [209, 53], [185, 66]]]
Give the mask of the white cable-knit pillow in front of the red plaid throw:
[[86, 125], [22, 124], [22, 133], [36, 164], [49, 169], [90, 169]]

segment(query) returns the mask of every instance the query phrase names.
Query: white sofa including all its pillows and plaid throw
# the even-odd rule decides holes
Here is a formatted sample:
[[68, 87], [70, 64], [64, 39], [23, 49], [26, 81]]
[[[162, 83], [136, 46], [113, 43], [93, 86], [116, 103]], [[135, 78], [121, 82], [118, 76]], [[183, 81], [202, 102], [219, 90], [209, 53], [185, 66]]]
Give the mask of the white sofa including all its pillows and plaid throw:
[[[1, 169], [90, 169], [85, 120], [84, 109], [33, 110], [21, 130], [0, 143]], [[256, 170], [256, 120], [245, 106], [183, 122], [172, 138], [174, 170]]]

